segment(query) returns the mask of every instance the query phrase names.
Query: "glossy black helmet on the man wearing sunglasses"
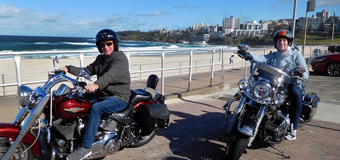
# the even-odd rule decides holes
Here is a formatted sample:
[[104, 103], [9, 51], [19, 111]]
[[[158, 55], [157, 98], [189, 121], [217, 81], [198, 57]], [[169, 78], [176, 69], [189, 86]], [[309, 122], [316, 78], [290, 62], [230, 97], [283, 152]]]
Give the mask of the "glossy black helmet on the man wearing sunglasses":
[[119, 37], [117, 33], [111, 29], [103, 29], [99, 31], [96, 35], [96, 45], [100, 53], [103, 53], [102, 48], [100, 47], [100, 42], [103, 40], [113, 40], [113, 45], [115, 51], [119, 50]]

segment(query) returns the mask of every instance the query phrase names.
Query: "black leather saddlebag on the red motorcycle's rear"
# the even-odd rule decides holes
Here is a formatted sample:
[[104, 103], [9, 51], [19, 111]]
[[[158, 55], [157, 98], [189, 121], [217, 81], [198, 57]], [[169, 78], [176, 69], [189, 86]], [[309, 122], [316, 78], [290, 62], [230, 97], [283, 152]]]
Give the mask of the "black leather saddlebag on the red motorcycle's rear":
[[170, 111], [163, 103], [140, 105], [136, 111], [138, 122], [150, 130], [167, 128], [170, 121]]

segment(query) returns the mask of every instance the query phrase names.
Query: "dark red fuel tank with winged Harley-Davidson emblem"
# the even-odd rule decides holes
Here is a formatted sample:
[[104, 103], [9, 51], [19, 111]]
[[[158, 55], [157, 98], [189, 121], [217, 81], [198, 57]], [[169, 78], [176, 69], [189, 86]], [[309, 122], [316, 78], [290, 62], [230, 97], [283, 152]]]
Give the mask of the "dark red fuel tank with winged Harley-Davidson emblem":
[[73, 119], [85, 116], [93, 103], [74, 98], [59, 96], [54, 101], [54, 111], [62, 119]]

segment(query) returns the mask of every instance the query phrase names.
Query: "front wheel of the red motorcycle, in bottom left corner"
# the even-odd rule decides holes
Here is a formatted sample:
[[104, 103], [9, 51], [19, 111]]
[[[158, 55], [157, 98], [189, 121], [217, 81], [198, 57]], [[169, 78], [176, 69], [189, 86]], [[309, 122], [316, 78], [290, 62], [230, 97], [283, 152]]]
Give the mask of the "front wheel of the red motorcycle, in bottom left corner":
[[[9, 139], [6, 137], [1, 137], [0, 138], [0, 158], [2, 158], [6, 154], [9, 147], [10, 147]], [[11, 157], [11, 160], [34, 160], [32, 149], [27, 150], [28, 147], [29, 145], [21, 143], [16, 148], [15, 153]]]

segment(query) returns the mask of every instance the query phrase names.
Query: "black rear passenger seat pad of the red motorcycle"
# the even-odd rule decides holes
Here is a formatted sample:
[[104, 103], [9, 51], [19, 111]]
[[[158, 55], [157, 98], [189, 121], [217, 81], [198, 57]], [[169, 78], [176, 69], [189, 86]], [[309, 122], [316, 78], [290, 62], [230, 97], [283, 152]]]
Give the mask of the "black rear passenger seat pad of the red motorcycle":
[[129, 103], [137, 105], [140, 102], [149, 102], [152, 100], [152, 94], [143, 89], [131, 90]]

